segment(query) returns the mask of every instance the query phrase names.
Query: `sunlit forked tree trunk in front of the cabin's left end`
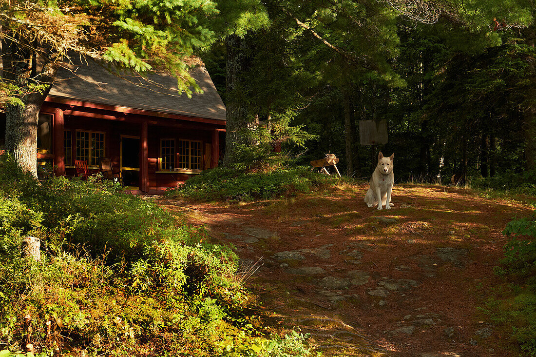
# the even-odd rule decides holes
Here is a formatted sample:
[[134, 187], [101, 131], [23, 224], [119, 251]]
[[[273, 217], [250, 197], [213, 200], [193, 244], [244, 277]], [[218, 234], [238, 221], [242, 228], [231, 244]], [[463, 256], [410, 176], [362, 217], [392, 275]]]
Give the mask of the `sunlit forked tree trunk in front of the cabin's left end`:
[[20, 88], [29, 89], [32, 83], [46, 85], [43, 92], [31, 92], [19, 98], [22, 104], [6, 106], [5, 149], [13, 155], [21, 169], [37, 178], [39, 111], [56, 79], [58, 65], [54, 62], [44, 63], [37, 75], [35, 54], [17, 47], [13, 42], [4, 43], [2, 60], [5, 78]]

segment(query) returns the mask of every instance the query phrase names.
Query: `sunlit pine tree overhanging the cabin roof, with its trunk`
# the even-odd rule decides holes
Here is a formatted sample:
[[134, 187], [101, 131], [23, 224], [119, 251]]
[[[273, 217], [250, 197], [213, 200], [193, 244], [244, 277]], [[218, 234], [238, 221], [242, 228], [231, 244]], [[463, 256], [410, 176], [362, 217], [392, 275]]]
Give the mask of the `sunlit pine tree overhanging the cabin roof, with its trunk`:
[[213, 33], [199, 19], [217, 13], [210, 0], [8, 0], [0, 3], [6, 149], [36, 177], [40, 107], [62, 63], [90, 56], [133, 71], [167, 70], [177, 88], [198, 88], [188, 75], [193, 48]]

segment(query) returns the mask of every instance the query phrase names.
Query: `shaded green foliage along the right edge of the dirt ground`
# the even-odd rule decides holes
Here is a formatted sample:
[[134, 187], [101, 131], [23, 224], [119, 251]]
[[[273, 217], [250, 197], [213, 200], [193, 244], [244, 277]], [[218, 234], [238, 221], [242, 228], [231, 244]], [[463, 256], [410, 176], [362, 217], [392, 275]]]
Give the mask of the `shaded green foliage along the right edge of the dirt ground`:
[[504, 258], [496, 273], [509, 285], [497, 289], [485, 311], [497, 324], [511, 327], [512, 337], [520, 346], [520, 355], [536, 355], [536, 213], [515, 218], [503, 234], [510, 237]]

